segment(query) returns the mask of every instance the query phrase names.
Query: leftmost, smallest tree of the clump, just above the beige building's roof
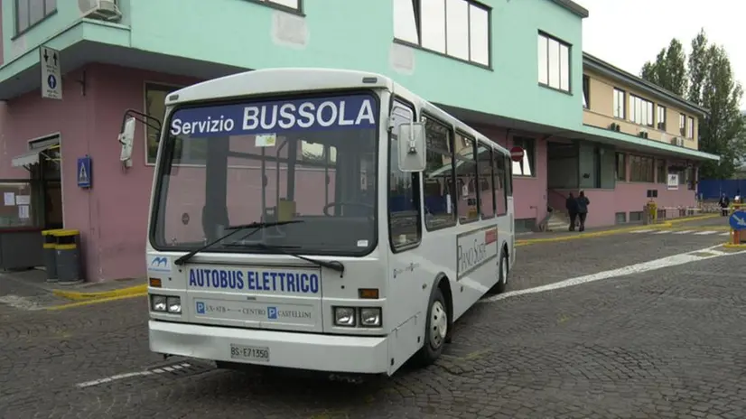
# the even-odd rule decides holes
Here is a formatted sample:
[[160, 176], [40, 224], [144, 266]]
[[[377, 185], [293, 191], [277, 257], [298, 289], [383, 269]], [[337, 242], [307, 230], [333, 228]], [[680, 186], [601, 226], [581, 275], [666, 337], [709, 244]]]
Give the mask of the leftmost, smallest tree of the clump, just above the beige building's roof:
[[684, 46], [676, 38], [667, 48], [657, 53], [656, 61], [648, 61], [640, 72], [642, 79], [666, 88], [676, 95], [684, 96], [686, 91], [686, 54]]

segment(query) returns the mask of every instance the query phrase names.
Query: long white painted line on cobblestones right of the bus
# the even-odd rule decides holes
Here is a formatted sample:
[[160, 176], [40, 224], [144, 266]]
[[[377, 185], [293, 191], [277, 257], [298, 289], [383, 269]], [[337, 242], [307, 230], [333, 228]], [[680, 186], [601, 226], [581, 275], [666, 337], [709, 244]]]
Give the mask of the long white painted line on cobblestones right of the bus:
[[[536, 286], [534, 288], [528, 288], [525, 290], [517, 290], [517, 291], [510, 291], [508, 293], [500, 293], [498, 295], [493, 295], [491, 297], [482, 299], [480, 300], [480, 303], [494, 303], [500, 300], [505, 300], [506, 298], [516, 297], [518, 295], [525, 295], [529, 293], [544, 293], [546, 291], [558, 290], [561, 288], [566, 288], [568, 286], [587, 284], [587, 283], [591, 283], [594, 281], [600, 281], [601, 279], [609, 279], [609, 278], [615, 278], [618, 276], [633, 275], [633, 274], [642, 274], [644, 272], [654, 271], [654, 270], [661, 269], [664, 267], [684, 265], [690, 262], [696, 262], [696, 261], [705, 260], [705, 259], [712, 259], [713, 257], [741, 255], [743, 253], [746, 253], [746, 250], [743, 250], [741, 252], [733, 252], [733, 253], [726, 253], [720, 250], [714, 250], [717, 247], [721, 247], [721, 245], [713, 246], [713, 247], [705, 247], [704, 249], [695, 250], [693, 252], [686, 252], [686, 253], [682, 253], [679, 255], [667, 256], [667, 257], [663, 257], [660, 259], [651, 260], [649, 262], [644, 262], [641, 264], [628, 265], [628, 266], [621, 267], [619, 269], [612, 269], [610, 271], [599, 272], [597, 274], [583, 275], [583, 276], [578, 276], [575, 278], [565, 279], [564, 281], [560, 281], [555, 284], [546, 284], [542, 286]], [[697, 253], [699, 253], [700, 255], [696, 255]]]

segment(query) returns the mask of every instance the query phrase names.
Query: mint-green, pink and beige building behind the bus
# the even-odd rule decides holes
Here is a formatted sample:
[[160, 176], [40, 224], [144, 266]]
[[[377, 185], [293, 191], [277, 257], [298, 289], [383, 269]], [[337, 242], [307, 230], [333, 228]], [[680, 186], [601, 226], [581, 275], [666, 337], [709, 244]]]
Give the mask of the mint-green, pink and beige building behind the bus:
[[[2, 0], [0, 12], [0, 228], [79, 229], [89, 281], [145, 274], [156, 133], [137, 127], [133, 164], [123, 167], [124, 111], [163, 118], [169, 92], [243, 70], [381, 73], [500, 144], [522, 146], [526, 157], [513, 165], [519, 229], [544, 222], [547, 205], [579, 188], [592, 200], [589, 226], [622, 212], [634, 219], [651, 189], [667, 204], [693, 204], [687, 187], [657, 183], [658, 163], [652, 177], [635, 173], [648, 161], [665, 160], [668, 172], [717, 158], [696, 151], [695, 132], [670, 144], [676, 113], [696, 121], [703, 109], [583, 56], [588, 12], [570, 0]], [[60, 51], [61, 99], [42, 98], [42, 45]], [[618, 118], [613, 87], [637, 95], [631, 105], [620, 98]], [[666, 108], [665, 129], [637, 98]], [[90, 188], [77, 182], [84, 156]], [[194, 158], [185, 151], [182, 164]]]

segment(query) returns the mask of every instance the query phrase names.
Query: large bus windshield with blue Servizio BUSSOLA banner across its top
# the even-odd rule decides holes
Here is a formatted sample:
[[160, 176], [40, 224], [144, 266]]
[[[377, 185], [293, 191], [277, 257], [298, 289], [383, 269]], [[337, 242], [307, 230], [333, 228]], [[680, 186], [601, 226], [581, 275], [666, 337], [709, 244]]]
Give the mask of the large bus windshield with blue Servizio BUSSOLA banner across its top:
[[293, 220], [204, 251], [369, 253], [378, 115], [370, 94], [176, 107], [159, 154], [153, 247], [189, 251], [235, 226]]

